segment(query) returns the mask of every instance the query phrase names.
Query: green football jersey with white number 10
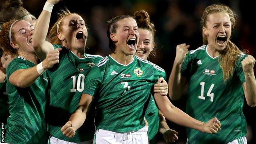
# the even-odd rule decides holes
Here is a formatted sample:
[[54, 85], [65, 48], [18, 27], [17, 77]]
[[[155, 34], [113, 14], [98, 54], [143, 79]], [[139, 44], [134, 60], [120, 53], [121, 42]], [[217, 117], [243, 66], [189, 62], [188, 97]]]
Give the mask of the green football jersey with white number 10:
[[[60, 48], [61, 46], [54, 45], [54, 47]], [[59, 64], [47, 71], [50, 80], [50, 106], [47, 109], [50, 135], [76, 143], [93, 139], [95, 132], [93, 109], [73, 138], [63, 135], [61, 128], [69, 121], [69, 117], [78, 107], [82, 91], [85, 88], [84, 80], [87, 73], [102, 58], [99, 55], [89, 54], [85, 54], [84, 58], [78, 58], [64, 47], [59, 52]]]

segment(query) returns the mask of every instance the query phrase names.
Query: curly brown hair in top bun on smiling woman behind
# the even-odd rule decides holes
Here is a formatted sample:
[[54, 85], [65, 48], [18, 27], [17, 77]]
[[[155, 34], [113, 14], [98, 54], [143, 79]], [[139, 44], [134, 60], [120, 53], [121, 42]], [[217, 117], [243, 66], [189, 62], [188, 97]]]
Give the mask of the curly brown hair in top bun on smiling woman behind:
[[[150, 21], [149, 14], [144, 10], [135, 11], [133, 14], [139, 28], [149, 30], [152, 33], [153, 41], [155, 40], [155, 25]], [[155, 48], [151, 51], [150, 55], [155, 56]]]

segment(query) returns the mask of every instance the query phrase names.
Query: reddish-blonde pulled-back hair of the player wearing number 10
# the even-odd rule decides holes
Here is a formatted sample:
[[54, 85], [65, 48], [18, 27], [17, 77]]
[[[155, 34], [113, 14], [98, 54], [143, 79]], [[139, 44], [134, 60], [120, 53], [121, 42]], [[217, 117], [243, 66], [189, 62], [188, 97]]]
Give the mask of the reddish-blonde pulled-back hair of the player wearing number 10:
[[[63, 20], [63, 18], [65, 18], [66, 16], [69, 16], [71, 14], [76, 14], [76, 13], [71, 13], [68, 9], [61, 9], [60, 12], [57, 13], [59, 18], [57, 19], [57, 21], [55, 22], [53, 27], [50, 29], [50, 33], [49, 33], [51, 43], [61, 44], [61, 41], [57, 37], [57, 35], [58, 35], [57, 31], [62, 32], [62, 25], [63, 25], [62, 20]], [[80, 16], [79, 14], [76, 14], [76, 15]], [[57, 26], [58, 26], [58, 30], [57, 30]]]

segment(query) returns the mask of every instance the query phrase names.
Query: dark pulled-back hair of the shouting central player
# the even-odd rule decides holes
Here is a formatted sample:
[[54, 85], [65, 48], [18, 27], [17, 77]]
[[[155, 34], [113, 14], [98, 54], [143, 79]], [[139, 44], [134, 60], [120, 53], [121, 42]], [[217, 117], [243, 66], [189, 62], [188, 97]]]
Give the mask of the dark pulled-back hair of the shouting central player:
[[[117, 22], [124, 19], [124, 18], [133, 18], [132, 16], [129, 15], [122, 15], [122, 16], [116, 16], [114, 18], [112, 18], [111, 20], [106, 22], [107, 25], [107, 37], [108, 37], [108, 41], [109, 41], [109, 48], [111, 50], [111, 53], [114, 53], [116, 46], [114, 41], [112, 41], [112, 39], [110, 38], [110, 34], [111, 33], [117, 33], [117, 28], [118, 28], [118, 24]], [[133, 18], [134, 19], [134, 18]]]

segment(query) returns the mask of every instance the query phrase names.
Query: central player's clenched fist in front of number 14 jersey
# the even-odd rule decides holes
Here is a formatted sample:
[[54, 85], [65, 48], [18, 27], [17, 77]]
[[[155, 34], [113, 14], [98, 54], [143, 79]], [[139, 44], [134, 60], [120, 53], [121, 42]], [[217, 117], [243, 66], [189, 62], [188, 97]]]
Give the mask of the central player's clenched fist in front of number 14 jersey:
[[218, 119], [215, 117], [213, 119], [210, 119], [207, 121], [207, 123], [203, 124], [203, 130], [204, 133], [217, 133], [221, 128], [221, 123], [218, 121]]

